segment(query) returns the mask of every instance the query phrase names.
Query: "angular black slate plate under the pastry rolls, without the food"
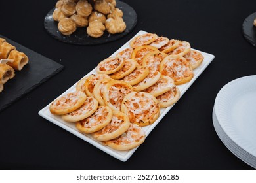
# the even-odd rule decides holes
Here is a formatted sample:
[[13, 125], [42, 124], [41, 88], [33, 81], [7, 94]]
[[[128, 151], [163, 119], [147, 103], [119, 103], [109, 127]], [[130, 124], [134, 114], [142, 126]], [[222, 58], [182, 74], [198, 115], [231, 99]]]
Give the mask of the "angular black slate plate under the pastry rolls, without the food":
[[7, 37], [2, 35], [0, 35], [0, 37], [5, 38], [7, 42], [16, 46], [18, 51], [24, 52], [29, 58], [28, 65], [25, 65], [22, 71], [15, 71], [14, 78], [8, 80], [4, 84], [3, 92], [0, 93], [1, 111], [14, 103], [14, 101], [18, 100], [24, 94], [30, 92], [35, 87], [51, 78], [51, 76], [62, 71], [64, 66], [37, 54], [33, 50], [30, 50]]

